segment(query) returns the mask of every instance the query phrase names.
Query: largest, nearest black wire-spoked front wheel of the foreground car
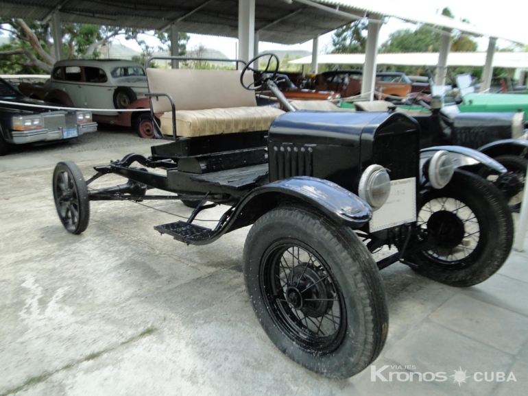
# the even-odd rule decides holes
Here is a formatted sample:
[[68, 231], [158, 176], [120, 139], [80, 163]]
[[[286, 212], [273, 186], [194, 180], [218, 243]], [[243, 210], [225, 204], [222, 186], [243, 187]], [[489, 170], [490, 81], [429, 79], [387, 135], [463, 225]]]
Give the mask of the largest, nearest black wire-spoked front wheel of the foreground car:
[[[290, 254], [287, 272], [283, 258]], [[328, 378], [349, 378], [383, 349], [389, 323], [385, 287], [372, 255], [348, 227], [305, 208], [276, 208], [252, 226], [243, 271], [265, 332], [303, 367]]]

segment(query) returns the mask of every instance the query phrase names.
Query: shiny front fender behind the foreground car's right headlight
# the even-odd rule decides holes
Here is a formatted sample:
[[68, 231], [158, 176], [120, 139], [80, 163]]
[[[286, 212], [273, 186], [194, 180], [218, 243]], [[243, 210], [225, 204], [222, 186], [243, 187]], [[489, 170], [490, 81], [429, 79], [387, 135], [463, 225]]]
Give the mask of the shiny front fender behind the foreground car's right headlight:
[[425, 161], [431, 158], [439, 150], [445, 150], [450, 153], [451, 158], [453, 158], [453, 162], [455, 162], [455, 168], [481, 164], [498, 173], [506, 173], [507, 171], [503, 165], [501, 165], [499, 162], [496, 162], [496, 160], [493, 158], [486, 156], [484, 153], [461, 146], [435, 146], [427, 147], [427, 149], [421, 149], [420, 169], [423, 168]]

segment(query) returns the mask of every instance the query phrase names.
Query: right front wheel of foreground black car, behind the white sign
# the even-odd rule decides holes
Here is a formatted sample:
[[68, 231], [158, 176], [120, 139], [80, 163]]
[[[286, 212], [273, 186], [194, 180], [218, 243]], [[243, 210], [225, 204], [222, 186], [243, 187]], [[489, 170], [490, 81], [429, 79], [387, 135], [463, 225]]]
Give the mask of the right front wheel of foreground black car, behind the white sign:
[[509, 256], [514, 225], [502, 193], [474, 173], [455, 170], [440, 190], [420, 199], [418, 226], [436, 247], [413, 254], [416, 272], [451, 286], [473, 286], [488, 279]]

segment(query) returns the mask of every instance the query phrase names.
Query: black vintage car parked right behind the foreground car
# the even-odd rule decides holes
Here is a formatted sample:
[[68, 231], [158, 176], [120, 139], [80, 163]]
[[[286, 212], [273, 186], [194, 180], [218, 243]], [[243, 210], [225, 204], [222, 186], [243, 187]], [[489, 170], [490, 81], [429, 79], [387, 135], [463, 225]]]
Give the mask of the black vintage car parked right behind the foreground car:
[[415, 106], [397, 105], [385, 101], [341, 103], [342, 108], [357, 111], [399, 111], [416, 119], [421, 129], [420, 147], [457, 145], [475, 149], [502, 164], [506, 172], [473, 165], [468, 169], [492, 180], [503, 191], [510, 208], [520, 210], [528, 166], [528, 134], [524, 129], [523, 112], [464, 113], [453, 103], [444, 106], [440, 98]]

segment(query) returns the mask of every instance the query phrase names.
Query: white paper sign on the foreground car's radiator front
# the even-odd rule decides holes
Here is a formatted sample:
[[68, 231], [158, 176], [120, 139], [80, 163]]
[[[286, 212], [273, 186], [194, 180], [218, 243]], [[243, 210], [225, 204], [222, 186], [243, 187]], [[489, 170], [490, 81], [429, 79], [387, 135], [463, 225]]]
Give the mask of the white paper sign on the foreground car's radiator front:
[[393, 180], [387, 202], [372, 213], [370, 232], [416, 221], [416, 177]]

